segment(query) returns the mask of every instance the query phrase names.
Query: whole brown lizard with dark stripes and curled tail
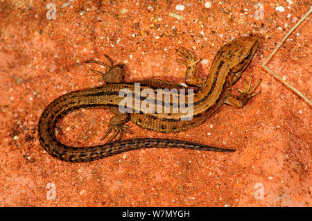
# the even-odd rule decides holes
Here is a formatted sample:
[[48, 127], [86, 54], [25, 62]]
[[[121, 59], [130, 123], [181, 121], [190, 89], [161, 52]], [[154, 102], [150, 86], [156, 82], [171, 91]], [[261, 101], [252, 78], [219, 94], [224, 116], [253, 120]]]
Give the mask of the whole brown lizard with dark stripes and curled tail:
[[[50, 103], [44, 109], [44, 112], [42, 112], [38, 123], [40, 143], [44, 147], [44, 150], [53, 157], [71, 162], [93, 161], [141, 148], [186, 148], [234, 152], [235, 150], [233, 149], [218, 148], [211, 145], [175, 139], [140, 138], [121, 140], [121, 137], [123, 136], [123, 132], [130, 132], [128, 125], [125, 125], [128, 121], [132, 121], [141, 127], [156, 132], [180, 132], [182, 130], [189, 130], [205, 122], [223, 104], [238, 108], [244, 107], [250, 98], [260, 93], [260, 91], [256, 93], [253, 93], [253, 91], [257, 88], [261, 79], [254, 87], [251, 87], [252, 76], [250, 76], [249, 83], [245, 81], [244, 88], [238, 89], [240, 92], [239, 96], [232, 95], [231, 88], [241, 78], [243, 71], [248, 67], [258, 46], [259, 37], [252, 35], [237, 38], [225, 44], [216, 54], [207, 78], [196, 76], [196, 65], [200, 60], [195, 60], [191, 51], [187, 51], [184, 48], [181, 48], [180, 51], [177, 50], [177, 53], [182, 58], [182, 60], [177, 59], [177, 62], [187, 67], [185, 83], [195, 89], [192, 94], [193, 117], [186, 121], [181, 120], [181, 112], [173, 113], [172, 109], [167, 113], [144, 113], [133, 112], [135, 108], [131, 107], [132, 112], [130, 113], [120, 112], [119, 103], [123, 97], [119, 96], [119, 91], [121, 89], [128, 89], [134, 92], [135, 90], [135, 84], [133, 82], [127, 83], [123, 80], [125, 73], [123, 69], [124, 64], [114, 65], [114, 62], [112, 62], [108, 55], [105, 55], [105, 58], [110, 62], [110, 65], [96, 60], [89, 60], [86, 63], [101, 64], [106, 68], [105, 73], [91, 69], [91, 71], [103, 77], [105, 85], [72, 91], [56, 98]], [[140, 89], [152, 89], [153, 91], [158, 88], [186, 88], [173, 82], [156, 79], [142, 80], [140, 83]], [[139, 99], [139, 102], [142, 102], [141, 98], [137, 99]], [[109, 127], [103, 136], [103, 139], [105, 139], [110, 132], [114, 131], [114, 134], [112, 134], [107, 143], [76, 148], [65, 145], [56, 138], [55, 127], [60, 118], [76, 109], [98, 107], [109, 109], [110, 112], [115, 114], [110, 119]], [[117, 135], [119, 136], [116, 138]]]

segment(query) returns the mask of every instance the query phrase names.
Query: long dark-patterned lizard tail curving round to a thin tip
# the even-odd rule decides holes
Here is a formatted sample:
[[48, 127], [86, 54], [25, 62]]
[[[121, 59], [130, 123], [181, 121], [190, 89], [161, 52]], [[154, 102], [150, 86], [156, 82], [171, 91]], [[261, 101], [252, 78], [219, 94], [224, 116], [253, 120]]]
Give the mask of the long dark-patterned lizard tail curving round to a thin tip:
[[[94, 89], [92, 90], [94, 91]], [[81, 96], [81, 93], [85, 93], [85, 96]], [[79, 95], [79, 96], [78, 96]], [[184, 148], [193, 150], [206, 150], [217, 152], [234, 152], [235, 150], [216, 148], [210, 145], [203, 145], [200, 143], [191, 143], [187, 141], [172, 140], [172, 139], [159, 139], [159, 138], [141, 138], [141, 139], [129, 139], [123, 141], [115, 141], [113, 143], [107, 143], [103, 145], [95, 145], [92, 147], [76, 148], [60, 143], [55, 136], [56, 123], [75, 109], [89, 108], [89, 107], [103, 107], [107, 104], [101, 103], [99, 105], [84, 104], [84, 98], [92, 96], [96, 100], [96, 96], [101, 96], [101, 91], [97, 94], [90, 95], [89, 90], [78, 92], [71, 92], [65, 94], [60, 98], [55, 99], [42, 113], [38, 124], [38, 134], [40, 143], [53, 157], [56, 157], [63, 161], [81, 162], [81, 161], [93, 161], [101, 159], [103, 157], [109, 157], [121, 152], [138, 150], [142, 148]]]

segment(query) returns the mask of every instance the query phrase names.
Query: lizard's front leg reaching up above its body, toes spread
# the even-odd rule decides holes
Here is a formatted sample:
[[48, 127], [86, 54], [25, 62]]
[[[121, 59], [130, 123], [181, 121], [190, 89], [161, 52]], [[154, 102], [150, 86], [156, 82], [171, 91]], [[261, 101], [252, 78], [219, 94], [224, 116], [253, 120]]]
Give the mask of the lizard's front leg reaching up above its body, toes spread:
[[206, 79], [195, 76], [196, 75], [196, 64], [201, 61], [195, 60], [191, 51], [186, 51], [181, 48], [181, 51], [177, 50], [177, 53], [183, 58], [183, 60], [177, 59], [177, 62], [187, 66], [187, 72], [185, 73], [185, 83], [202, 88], [205, 85]]

